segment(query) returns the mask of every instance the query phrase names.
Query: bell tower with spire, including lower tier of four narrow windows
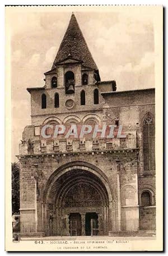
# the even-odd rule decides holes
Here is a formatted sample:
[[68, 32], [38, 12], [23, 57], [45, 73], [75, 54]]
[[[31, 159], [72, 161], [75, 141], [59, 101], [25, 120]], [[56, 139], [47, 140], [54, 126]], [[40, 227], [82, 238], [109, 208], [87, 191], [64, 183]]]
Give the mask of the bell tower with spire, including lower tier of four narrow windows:
[[101, 115], [102, 92], [114, 91], [114, 81], [100, 81], [99, 70], [74, 16], [68, 24], [51, 70], [44, 73], [45, 85], [27, 88], [31, 94], [31, 124], [35, 134], [48, 118], [62, 118], [97, 111]]

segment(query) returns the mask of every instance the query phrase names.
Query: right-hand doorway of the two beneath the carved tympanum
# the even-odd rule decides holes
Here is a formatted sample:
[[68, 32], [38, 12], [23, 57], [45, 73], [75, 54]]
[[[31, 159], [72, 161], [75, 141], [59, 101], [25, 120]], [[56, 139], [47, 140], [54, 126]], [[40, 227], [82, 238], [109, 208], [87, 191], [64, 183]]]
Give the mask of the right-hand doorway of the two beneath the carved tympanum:
[[98, 215], [95, 212], [86, 213], [85, 218], [85, 235], [97, 236], [99, 234]]

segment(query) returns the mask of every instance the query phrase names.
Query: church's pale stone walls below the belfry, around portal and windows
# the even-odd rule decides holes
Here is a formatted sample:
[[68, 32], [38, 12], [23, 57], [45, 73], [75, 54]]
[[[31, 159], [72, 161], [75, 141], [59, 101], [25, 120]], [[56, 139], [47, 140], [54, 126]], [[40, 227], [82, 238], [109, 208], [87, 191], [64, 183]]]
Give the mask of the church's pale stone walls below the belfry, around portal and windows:
[[[108, 208], [113, 213], [113, 220], [109, 220], [109, 231], [155, 229], [155, 170], [146, 173], [143, 171], [142, 129], [143, 118], [148, 112], [155, 117], [154, 90], [104, 94], [103, 97], [100, 95], [100, 104], [96, 106], [95, 88], [97, 85], [79, 84], [75, 88], [75, 94], [71, 95], [66, 95], [61, 86], [31, 91], [32, 125], [25, 127], [19, 157], [21, 223], [27, 223], [27, 220], [32, 222], [32, 227], [26, 227], [26, 224], [21, 227], [24, 232], [30, 232], [31, 229], [32, 232], [46, 231], [50, 234], [49, 226], [47, 230], [44, 226], [43, 196], [46, 184], [60, 167], [76, 162], [99, 168], [108, 179], [114, 193], [113, 202], [109, 202]], [[86, 90], [86, 106], [80, 105], [82, 89]], [[44, 92], [48, 103], [46, 109], [41, 109], [41, 94]], [[53, 106], [55, 92], [60, 95], [59, 108]], [[71, 109], [65, 105], [68, 99], [73, 99], [74, 102]], [[85, 143], [81, 143], [80, 139], [43, 140], [39, 135], [40, 125], [48, 122], [69, 124], [72, 121], [85, 124], [89, 119], [100, 125], [115, 125], [117, 121], [119, 125], [123, 125], [126, 139], [114, 138], [108, 141], [106, 138], [99, 138], [96, 143], [93, 139], [86, 139]], [[151, 193], [152, 205], [148, 207], [141, 205], [143, 191]], [[49, 210], [47, 211], [49, 214]], [[49, 221], [49, 215], [46, 220]]]

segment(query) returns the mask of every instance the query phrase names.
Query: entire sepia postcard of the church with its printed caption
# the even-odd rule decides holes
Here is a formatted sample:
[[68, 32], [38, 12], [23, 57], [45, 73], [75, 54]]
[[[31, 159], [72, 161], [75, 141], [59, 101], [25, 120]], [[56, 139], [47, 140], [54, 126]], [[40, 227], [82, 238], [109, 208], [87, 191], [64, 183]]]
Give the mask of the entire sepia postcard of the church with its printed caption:
[[6, 250], [162, 250], [162, 15], [6, 6]]

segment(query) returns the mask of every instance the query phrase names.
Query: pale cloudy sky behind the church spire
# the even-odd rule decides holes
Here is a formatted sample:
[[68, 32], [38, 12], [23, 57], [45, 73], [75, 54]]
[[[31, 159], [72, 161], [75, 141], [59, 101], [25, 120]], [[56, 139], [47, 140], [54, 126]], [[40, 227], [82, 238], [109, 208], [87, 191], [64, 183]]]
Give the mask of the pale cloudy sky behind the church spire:
[[[31, 125], [27, 87], [44, 86], [71, 11], [16, 11], [7, 16], [11, 45], [12, 161], [17, 161], [22, 131]], [[152, 15], [142, 12], [74, 11], [101, 81], [115, 80], [117, 90], [155, 87]]]

